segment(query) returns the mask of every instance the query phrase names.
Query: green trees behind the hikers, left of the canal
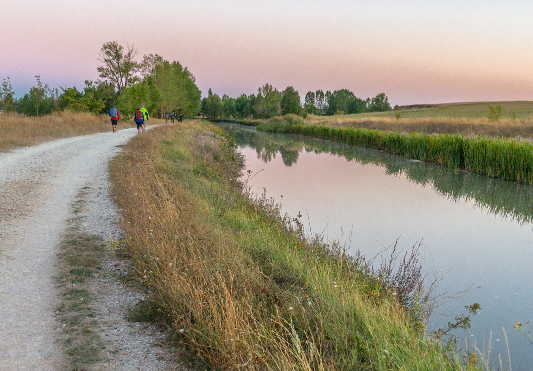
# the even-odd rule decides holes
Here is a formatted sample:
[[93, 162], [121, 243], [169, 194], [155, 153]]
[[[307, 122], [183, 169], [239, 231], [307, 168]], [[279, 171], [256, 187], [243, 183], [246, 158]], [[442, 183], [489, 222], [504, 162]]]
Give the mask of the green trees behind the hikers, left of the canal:
[[6, 77], [0, 87], [0, 110], [29, 116], [64, 109], [107, 114], [116, 106], [127, 117], [144, 104], [154, 117], [163, 117], [170, 111], [183, 117], [198, 115], [201, 91], [187, 67], [157, 54], [144, 55], [142, 62], [136, 62], [136, 55], [133, 45], [124, 48], [115, 41], [103, 44], [97, 68], [102, 80], [85, 80], [80, 90], [75, 86], [50, 88], [37, 75], [36, 85], [17, 99], [10, 78]]

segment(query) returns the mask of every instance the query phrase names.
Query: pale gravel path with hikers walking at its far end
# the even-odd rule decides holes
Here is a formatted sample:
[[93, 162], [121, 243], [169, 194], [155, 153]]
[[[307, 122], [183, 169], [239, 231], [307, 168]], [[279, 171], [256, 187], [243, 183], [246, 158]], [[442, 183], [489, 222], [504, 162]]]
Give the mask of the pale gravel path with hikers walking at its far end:
[[[0, 370], [72, 369], [62, 343], [69, 327], [55, 316], [64, 300], [56, 277], [60, 245], [74, 216], [88, 235], [103, 241], [120, 235], [107, 163], [135, 133], [78, 136], [0, 154]], [[73, 214], [82, 189], [88, 190], [85, 206]], [[103, 257], [95, 279], [94, 319], [100, 325], [94, 330], [107, 345], [102, 360], [87, 369], [175, 369], [170, 351], [154, 347], [163, 333], [123, 320], [143, 293], [117, 285], [116, 271], [127, 270], [117, 259]]]

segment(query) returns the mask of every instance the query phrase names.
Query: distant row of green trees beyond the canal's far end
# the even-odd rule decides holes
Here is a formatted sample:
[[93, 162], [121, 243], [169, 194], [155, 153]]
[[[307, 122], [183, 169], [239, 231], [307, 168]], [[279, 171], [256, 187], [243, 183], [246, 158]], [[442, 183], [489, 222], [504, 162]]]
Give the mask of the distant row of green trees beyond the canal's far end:
[[308, 114], [330, 116], [389, 110], [391, 105], [385, 93], [362, 100], [347, 89], [333, 93], [309, 91], [302, 104], [300, 93], [292, 86], [279, 91], [267, 83], [257, 89], [257, 94], [241, 94], [238, 98], [231, 98], [228, 94], [220, 98], [209, 89], [207, 96], [202, 99], [200, 113], [209, 118], [270, 118], [287, 114], [306, 117]]

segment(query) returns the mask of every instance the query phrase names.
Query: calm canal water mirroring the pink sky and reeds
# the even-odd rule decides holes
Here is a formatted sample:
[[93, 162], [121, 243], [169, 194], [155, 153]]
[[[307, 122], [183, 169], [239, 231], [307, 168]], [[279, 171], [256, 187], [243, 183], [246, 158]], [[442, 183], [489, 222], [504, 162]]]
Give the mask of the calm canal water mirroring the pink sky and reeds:
[[479, 303], [472, 327], [455, 334], [483, 349], [492, 332], [491, 364], [499, 353], [505, 364], [505, 328], [513, 368], [533, 368], [533, 344], [513, 328], [533, 319], [532, 186], [373, 149], [220, 126], [246, 156], [255, 193], [265, 188], [283, 212], [303, 215], [308, 232], [342, 238], [351, 253], [369, 259], [390, 252], [397, 239], [404, 251], [422, 243], [427, 270], [442, 279], [430, 326], [446, 327], [464, 305]]

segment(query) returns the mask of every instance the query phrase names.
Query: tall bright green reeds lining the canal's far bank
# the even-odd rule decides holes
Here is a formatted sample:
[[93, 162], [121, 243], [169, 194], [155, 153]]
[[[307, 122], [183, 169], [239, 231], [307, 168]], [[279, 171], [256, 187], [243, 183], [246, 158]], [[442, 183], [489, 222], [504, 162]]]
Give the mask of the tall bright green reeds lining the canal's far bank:
[[533, 184], [533, 144], [529, 141], [304, 125], [301, 118], [293, 116], [273, 118], [257, 125], [257, 130], [313, 136], [464, 169], [490, 178]]

